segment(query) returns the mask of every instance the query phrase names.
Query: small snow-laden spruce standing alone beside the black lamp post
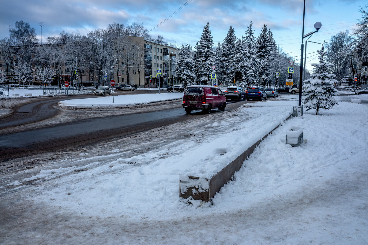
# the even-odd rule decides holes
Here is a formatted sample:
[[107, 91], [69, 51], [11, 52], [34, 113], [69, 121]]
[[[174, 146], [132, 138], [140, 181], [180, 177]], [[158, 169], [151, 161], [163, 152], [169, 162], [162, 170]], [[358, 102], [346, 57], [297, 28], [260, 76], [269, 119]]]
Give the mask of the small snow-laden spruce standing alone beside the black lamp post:
[[319, 114], [319, 109], [332, 109], [335, 104], [338, 104], [333, 96], [339, 95], [334, 88], [335, 75], [329, 74], [328, 69], [332, 64], [326, 63], [327, 52], [318, 50], [319, 64], [313, 64], [314, 73], [311, 78], [303, 82], [302, 87], [302, 104], [308, 110], [316, 109], [316, 115]]

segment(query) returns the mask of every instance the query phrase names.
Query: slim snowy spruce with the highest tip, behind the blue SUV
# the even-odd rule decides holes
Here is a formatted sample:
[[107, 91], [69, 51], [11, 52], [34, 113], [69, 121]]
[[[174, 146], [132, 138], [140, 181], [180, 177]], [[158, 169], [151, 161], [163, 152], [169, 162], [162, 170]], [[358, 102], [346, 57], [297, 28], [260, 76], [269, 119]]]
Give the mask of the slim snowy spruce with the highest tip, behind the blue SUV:
[[245, 32], [244, 44], [246, 49], [246, 56], [244, 60], [247, 61], [244, 71], [244, 81], [249, 85], [255, 83], [258, 77], [258, 59], [255, 52], [255, 38], [254, 30], [252, 29], [252, 21], [250, 22], [247, 31]]

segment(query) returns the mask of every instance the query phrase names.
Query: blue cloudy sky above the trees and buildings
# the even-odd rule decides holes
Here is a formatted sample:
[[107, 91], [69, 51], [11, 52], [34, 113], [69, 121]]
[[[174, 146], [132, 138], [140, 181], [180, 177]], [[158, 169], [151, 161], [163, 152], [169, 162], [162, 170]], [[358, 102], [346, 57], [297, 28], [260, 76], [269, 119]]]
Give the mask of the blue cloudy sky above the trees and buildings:
[[[84, 35], [96, 28], [106, 28], [113, 22], [129, 25], [144, 23], [151, 30], [164, 19], [170, 19], [153, 29], [152, 36], [162, 35], [169, 43], [195, 45], [201, 37], [203, 27], [210, 24], [215, 45], [223, 42], [230, 25], [238, 37], [244, 35], [249, 22], [253, 22], [255, 36], [259, 35], [263, 24], [271, 29], [276, 43], [286, 53], [300, 58], [302, 33], [303, 0], [14, 0], [1, 1], [0, 38], [8, 36], [9, 25], [23, 20], [35, 28], [39, 40], [47, 36], [57, 36], [61, 31], [79, 32]], [[322, 28], [309, 40], [328, 42], [332, 35], [349, 29], [353, 30], [361, 17], [359, 0], [307, 0], [305, 31], [314, 31], [314, 23], [319, 21]], [[316, 51], [321, 45], [308, 43], [307, 53]], [[312, 54], [307, 55], [307, 66], [316, 63]]]

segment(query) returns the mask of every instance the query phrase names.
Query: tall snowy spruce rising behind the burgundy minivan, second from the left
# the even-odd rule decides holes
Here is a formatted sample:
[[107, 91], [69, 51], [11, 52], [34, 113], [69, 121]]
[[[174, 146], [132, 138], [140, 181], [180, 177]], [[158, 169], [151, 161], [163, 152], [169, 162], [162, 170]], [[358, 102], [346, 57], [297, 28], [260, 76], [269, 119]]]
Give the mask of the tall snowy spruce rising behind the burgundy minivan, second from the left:
[[211, 66], [213, 65], [213, 39], [209, 29], [209, 23], [204, 26], [201, 39], [195, 45], [194, 53], [194, 67], [195, 78], [199, 84], [206, 84], [208, 75], [211, 73]]

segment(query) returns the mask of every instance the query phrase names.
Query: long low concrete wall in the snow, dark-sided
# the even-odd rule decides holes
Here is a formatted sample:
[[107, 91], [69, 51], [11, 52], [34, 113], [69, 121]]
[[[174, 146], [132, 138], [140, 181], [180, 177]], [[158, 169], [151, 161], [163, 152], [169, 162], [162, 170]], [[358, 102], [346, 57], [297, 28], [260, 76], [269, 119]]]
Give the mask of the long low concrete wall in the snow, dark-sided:
[[[293, 114], [287, 117], [284, 121], [288, 120]], [[179, 189], [180, 197], [187, 199], [192, 198], [194, 200], [202, 200], [204, 202], [210, 202], [210, 200], [215, 196], [216, 192], [232, 180], [233, 175], [236, 171], [240, 169], [243, 162], [248, 159], [252, 154], [254, 149], [261, 143], [261, 141], [271, 134], [276, 128], [281, 124], [277, 125], [268, 134], [262, 137], [259, 141], [255, 142], [247, 150], [245, 150], [240, 156], [235, 160], [231, 161], [226, 167], [217, 172], [211, 178], [199, 178], [195, 176], [180, 175]]]

